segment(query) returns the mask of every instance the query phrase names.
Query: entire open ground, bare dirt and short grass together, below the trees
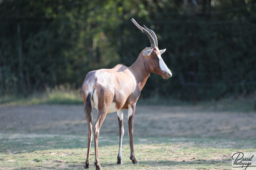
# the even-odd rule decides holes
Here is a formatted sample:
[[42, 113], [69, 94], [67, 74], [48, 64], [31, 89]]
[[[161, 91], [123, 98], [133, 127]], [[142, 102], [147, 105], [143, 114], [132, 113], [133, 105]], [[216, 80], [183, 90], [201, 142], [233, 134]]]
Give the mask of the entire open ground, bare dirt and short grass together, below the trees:
[[[240, 102], [243, 108], [228, 102], [138, 104], [134, 150], [139, 165], [129, 160], [127, 111], [123, 165], [116, 165], [118, 121], [116, 113], [108, 114], [99, 137], [102, 169], [231, 169], [231, 152], [256, 150], [256, 113], [248, 101]], [[88, 132], [83, 117], [79, 104], [0, 105], [0, 167], [83, 169]], [[95, 109], [93, 122], [96, 117]], [[94, 169], [93, 141], [90, 155]]]

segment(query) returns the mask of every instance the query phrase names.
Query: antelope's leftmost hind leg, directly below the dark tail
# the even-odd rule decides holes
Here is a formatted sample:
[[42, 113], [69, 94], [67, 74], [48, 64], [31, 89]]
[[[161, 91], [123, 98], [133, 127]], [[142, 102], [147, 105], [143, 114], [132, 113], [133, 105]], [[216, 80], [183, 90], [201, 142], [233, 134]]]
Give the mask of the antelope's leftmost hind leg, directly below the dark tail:
[[91, 101], [92, 104], [92, 112], [91, 114], [86, 118], [87, 123], [88, 123], [88, 145], [87, 145], [87, 157], [85, 161], [85, 166], [84, 168], [89, 168], [90, 166], [90, 149], [91, 149], [91, 143], [92, 143], [92, 119], [93, 119], [93, 108], [94, 108], [94, 102]]

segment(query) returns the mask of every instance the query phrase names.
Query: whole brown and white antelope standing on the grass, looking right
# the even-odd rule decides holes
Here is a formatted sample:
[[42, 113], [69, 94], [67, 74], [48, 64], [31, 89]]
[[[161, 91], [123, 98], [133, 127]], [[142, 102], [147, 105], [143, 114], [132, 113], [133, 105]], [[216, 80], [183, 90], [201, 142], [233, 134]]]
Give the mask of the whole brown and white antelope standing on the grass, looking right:
[[172, 77], [172, 72], [165, 65], [161, 54], [166, 49], [159, 50], [156, 34], [141, 27], [133, 18], [132, 22], [142, 33], [145, 33], [151, 47], [140, 52], [139, 57], [130, 67], [123, 64], [116, 65], [113, 69], [100, 69], [87, 73], [82, 85], [82, 98], [84, 101], [85, 117], [88, 123], [88, 147], [84, 168], [89, 168], [89, 156], [92, 142], [93, 108], [98, 110], [98, 117], [93, 127], [96, 169], [101, 169], [98, 154], [98, 137], [100, 127], [108, 113], [117, 112], [119, 123], [119, 152], [116, 164], [122, 164], [122, 140], [124, 135], [123, 109], [128, 109], [128, 129], [130, 138], [130, 159], [133, 164], [138, 164], [133, 151], [133, 117], [136, 102], [140, 91], [144, 87], [150, 73], [155, 73], [163, 78]]

